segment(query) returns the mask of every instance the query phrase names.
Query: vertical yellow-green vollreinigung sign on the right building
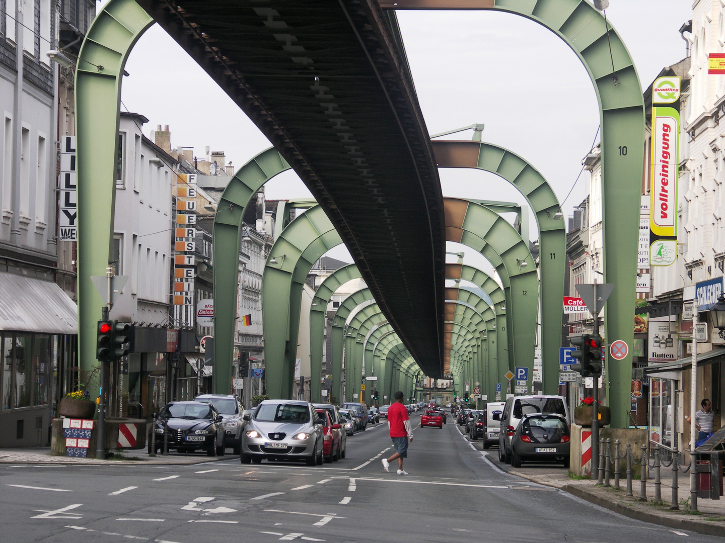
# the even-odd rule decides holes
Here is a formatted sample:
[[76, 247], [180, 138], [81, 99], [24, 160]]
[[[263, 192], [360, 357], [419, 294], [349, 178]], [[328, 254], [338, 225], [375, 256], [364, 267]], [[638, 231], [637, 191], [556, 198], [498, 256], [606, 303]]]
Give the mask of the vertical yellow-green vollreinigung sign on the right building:
[[679, 99], [679, 77], [655, 80], [652, 88], [650, 266], [670, 266], [677, 258]]

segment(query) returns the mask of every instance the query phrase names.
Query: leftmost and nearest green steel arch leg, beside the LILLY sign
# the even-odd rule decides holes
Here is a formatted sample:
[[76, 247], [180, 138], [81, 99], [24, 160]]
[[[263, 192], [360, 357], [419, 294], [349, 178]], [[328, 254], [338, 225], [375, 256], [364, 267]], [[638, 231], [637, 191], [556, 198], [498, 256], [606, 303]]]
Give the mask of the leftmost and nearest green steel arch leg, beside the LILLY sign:
[[[154, 20], [134, 0], [111, 0], [80, 46], [75, 70], [78, 161], [78, 344], [82, 371], [97, 366], [96, 321], [104, 303], [91, 282], [106, 275], [116, 193], [117, 138], [123, 67]], [[91, 395], [96, 395], [91, 390]]]

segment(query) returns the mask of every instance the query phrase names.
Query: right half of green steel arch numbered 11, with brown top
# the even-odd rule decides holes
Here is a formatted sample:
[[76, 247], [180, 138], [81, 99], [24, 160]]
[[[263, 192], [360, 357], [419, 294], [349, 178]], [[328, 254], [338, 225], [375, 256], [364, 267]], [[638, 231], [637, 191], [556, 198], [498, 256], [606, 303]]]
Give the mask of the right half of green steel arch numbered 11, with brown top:
[[[480, 141], [433, 140], [439, 168], [476, 168], [497, 174], [521, 192], [531, 206], [539, 229], [539, 282], [542, 313], [544, 394], [558, 394], [559, 347], [563, 322], [566, 229], [555, 219], [561, 206], [544, 176], [528, 161], [506, 148]], [[528, 241], [528, 240], [524, 240]]]

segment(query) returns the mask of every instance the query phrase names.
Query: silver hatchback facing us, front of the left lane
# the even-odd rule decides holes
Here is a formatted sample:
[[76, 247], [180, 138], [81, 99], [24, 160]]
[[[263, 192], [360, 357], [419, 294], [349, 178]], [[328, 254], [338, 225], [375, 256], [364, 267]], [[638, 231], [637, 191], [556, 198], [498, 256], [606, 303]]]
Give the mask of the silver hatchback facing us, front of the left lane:
[[241, 463], [268, 460], [306, 460], [307, 466], [323, 463], [323, 420], [310, 402], [264, 400], [241, 434]]

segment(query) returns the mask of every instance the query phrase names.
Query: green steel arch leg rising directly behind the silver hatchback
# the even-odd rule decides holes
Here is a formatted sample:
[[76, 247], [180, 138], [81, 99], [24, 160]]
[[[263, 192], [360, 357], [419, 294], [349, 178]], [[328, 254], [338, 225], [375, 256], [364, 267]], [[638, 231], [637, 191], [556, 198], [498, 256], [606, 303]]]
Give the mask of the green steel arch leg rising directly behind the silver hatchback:
[[[291, 397], [302, 285], [318, 258], [340, 243], [323, 209], [314, 206], [289, 223], [270, 251], [262, 275], [265, 376], [270, 397]], [[319, 389], [319, 381], [316, 387]]]

